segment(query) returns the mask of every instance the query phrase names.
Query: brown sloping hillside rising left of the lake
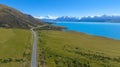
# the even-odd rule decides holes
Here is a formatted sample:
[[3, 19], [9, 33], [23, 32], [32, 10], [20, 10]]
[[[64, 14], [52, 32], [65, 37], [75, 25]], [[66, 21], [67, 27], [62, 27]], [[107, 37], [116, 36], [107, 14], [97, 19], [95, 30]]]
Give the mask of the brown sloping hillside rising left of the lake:
[[0, 27], [30, 29], [31, 26], [44, 24], [31, 15], [24, 14], [14, 8], [0, 4]]

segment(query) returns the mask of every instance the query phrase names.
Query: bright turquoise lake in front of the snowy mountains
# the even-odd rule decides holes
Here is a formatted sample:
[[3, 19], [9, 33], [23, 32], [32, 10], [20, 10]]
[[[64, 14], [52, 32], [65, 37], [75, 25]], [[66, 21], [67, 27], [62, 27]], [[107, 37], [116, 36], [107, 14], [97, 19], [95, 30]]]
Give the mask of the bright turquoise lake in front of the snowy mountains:
[[120, 40], [120, 23], [57, 22], [56, 25], [64, 26], [68, 30], [72, 30], [72, 31]]

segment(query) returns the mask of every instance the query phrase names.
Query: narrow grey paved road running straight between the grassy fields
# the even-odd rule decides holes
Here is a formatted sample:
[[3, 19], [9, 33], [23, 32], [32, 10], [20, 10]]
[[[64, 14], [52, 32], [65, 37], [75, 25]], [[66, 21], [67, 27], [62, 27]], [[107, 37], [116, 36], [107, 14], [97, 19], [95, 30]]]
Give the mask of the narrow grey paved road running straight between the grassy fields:
[[33, 41], [33, 49], [32, 49], [32, 60], [31, 60], [31, 67], [36, 67], [36, 32], [31, 29], [33, 35], [34, 35], [34, 41]]

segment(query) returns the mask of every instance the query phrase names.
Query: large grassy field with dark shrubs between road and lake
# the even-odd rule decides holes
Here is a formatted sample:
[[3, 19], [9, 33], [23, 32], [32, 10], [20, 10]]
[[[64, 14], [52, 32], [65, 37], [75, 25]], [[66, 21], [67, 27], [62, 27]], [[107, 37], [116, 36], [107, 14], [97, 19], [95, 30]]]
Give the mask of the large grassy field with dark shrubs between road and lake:
[[120, 67], [120, 41], [77, 32], [37, 33], [38, 67]]

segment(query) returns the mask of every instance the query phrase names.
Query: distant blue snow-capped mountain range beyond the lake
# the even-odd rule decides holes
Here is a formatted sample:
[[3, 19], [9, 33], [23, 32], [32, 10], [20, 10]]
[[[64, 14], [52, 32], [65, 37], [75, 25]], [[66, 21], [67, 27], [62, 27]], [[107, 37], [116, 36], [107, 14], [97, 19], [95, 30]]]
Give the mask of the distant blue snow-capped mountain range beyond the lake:
[[108, 16], [108, 15], [102, 15], [102, 16], [88, 16], [88, 17], [71, 17], [71, 16], [61, 16], [57, 18], [39, 18], [46, 22], [56, 22], [56, 21], [67, 21], [67, 22], [120, 22], [120, 16]]

